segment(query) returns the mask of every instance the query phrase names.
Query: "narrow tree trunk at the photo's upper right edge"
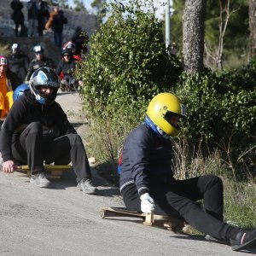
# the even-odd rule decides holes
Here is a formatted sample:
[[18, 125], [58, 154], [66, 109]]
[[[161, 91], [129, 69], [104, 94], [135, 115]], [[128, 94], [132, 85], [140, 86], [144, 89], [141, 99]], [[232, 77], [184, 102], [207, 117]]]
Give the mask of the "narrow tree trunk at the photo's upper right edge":
[[256, 57], [256, 0], [249, 0], [250, 54]]

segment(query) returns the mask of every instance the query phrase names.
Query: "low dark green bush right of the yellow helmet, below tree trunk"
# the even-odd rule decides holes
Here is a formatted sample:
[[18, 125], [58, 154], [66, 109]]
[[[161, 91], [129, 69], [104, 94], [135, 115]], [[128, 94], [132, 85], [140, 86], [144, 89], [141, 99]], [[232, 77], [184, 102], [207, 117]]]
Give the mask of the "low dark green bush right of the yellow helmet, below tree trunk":
[[[181, 76], [175, 90], [187, 108], [184, 135], [222, 149], [233, 174], [255, 176], [255, 61], [229, 72]], [[206, 153], [207, 154], [207, 153]]]

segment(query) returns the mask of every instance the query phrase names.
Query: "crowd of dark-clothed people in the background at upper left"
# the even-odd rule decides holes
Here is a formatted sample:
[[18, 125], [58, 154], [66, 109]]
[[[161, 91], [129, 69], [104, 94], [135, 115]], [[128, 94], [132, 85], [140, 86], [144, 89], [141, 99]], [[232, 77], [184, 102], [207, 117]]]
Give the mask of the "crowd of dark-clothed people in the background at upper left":
[[[22, 9], [26, 4], [28, 28], [24, 25], [24, 15]], [[30, 0], [27, 3], [21, 3], [20, 0], [12, 0], [10, 7], [13, 10], [12, 19], [15, 21], [15, 36], [28, 38], [44, 35], [44, 30], [51, 29], [54, 32], [55, 46], [61, 49], [60, 60], [51, 60], [45, 55], [45, 49], [41, 44], [34, 45], [32, 51], [35, 55], [34, 59], [29, 60], [27, 55], [22, 53], [22, 45], [13, 44], [11, 46], [12, 54], [3, 56], [6, 59], [7, 69], [14, 73], [15, 84], [11, 84], [10, 90], [22, 83], [28, 84], [29, 79], [38, 68], [50, 67], [55, 70], [59, 79], [61, 79], [61, 90], [75, 90], [79, 86], [73, 76], [73, 70], [76, 63], [81, 60], [82, 54], [87, 52], [86, 44], [89, 40], [88, 34], [82, 30], [81, 26], [75, 28], [73, 36], [69, 41], [62, 42], [63, 26], [67, 24], [67, 18], [59, 6], [55, 6], [49, 11], [49, 6], [43, 0]], [[0, 53], [1, 54], [1, 53]], [[58, 61], [57, 67], [55, 63]]]

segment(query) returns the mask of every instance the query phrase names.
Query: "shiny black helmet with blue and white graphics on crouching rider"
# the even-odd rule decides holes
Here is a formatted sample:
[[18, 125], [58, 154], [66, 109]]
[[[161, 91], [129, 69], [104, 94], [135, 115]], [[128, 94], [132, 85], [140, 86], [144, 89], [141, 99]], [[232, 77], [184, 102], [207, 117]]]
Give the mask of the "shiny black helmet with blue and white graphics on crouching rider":
[[[60, 87], [60, 81], [57, 74], [50, 67], [40, 67], [34, 73], [29, 80], [30, 90], [35, 96], [36, 101], [42, 105], [49, 105], [55, 101], [57, 96], [57, 90]], [[53, 87], [54, 91], [50, 96], [45, 96], [40, 90], [40, 86]]]

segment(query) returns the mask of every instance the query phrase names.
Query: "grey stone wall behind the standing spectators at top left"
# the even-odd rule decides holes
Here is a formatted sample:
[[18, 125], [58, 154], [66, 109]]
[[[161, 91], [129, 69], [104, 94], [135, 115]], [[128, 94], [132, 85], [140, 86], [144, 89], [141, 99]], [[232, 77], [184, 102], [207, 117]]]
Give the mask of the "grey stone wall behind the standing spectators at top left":
[[[22, 1], [20, 1], [22, 2]], [[15, 23], [10, 19], [12, 9], [10, 8], [11, 0], [1, 0], [0, 8], [0, 36], [12, 37], [15, 36]], [[27, 26], [27, 9], [26, 2], [23, 3], [22, 9], [25, 15], [25, 25]], [[49, 7], [49, 12], [53, 7]], [[64, 15], [67, 17], [67, 25], [64, 25], [63, 29], [63, 43], [70, 40], [73, 35], [76, 26], [81, 26], [83, 30], [91, 35], [98, 29], [96, 23], [96, 15], [92, 15], [88, 12], [76, 12], [70, 9], [63, 9]], [[53, 40], [53, 33], [50, 31], [44, 31], [44, 35], [47, 38]]]

